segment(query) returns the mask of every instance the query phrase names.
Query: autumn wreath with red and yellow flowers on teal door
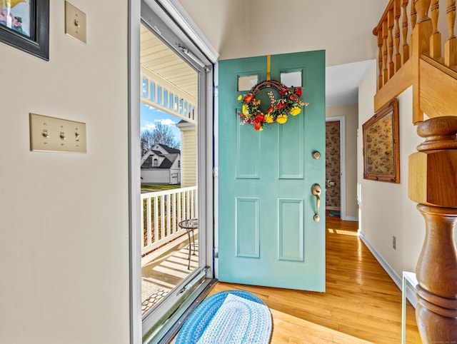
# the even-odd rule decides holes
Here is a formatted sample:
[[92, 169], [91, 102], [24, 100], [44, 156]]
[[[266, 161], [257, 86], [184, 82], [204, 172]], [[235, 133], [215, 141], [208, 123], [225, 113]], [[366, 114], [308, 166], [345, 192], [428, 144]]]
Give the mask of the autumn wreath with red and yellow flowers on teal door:
[[[269, 106], [261, 104], [258, 97], [261, 93], [268, 96], [264, 103], [269, 101]], [[301, 106], [308, 105], [298, 97], [301, 97], [301, 87], [287, 87], [273, 80], [261, 81], [249, 93], [238, 96], [238, 101], [243, 103], [241, 112], [238, 112], [241, 124], [253, 124], [254, 129], [262, 131], [266, 123], [286, 123], [289, 114], [296, 116], [301, 113]]]

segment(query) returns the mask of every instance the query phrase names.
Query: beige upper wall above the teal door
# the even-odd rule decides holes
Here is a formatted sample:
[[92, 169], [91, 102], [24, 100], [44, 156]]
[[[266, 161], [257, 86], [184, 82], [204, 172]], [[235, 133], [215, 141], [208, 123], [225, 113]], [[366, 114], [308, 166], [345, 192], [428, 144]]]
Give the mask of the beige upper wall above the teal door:
[[326, 50], [326, 65], [373, 59], [388, 0], [181, 0], [221, 59]]

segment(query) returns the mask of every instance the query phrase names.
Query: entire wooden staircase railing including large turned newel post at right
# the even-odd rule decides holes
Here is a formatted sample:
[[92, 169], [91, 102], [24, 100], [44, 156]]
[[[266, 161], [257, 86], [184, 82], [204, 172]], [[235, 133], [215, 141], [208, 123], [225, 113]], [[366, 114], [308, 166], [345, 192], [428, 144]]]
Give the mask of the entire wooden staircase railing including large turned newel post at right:
[[[446, 9], [445, 41], [438, 29], [443, 22], [440, 8]], [[425, 138], [409, 157], [408, 167], [408, 196], [418, 203], [426, 221], [416, 266], [416, 320], [423, 343], [457, 339], [455, 23], [456, 0], [391, 0], [373, 30], [379, 69], [375, 111], [413, 86], [413, 123]], [[423, 121], [423, 113], [430, 119]]]

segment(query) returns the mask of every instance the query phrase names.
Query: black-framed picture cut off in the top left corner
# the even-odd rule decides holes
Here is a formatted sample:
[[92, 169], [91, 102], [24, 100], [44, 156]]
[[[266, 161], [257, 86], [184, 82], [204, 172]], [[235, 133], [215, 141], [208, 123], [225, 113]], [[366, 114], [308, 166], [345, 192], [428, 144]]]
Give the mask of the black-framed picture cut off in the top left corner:
[[49, 0], [0, 0], [0, 41], [49, 60]]

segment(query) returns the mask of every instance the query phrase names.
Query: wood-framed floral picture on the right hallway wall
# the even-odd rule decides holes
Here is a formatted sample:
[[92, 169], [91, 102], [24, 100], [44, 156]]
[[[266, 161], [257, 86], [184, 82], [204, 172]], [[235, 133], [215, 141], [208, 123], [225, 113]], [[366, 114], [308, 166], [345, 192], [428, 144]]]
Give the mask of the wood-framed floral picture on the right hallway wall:
[[363, 178], [400, 183], [398, 100], [363, 123]]

